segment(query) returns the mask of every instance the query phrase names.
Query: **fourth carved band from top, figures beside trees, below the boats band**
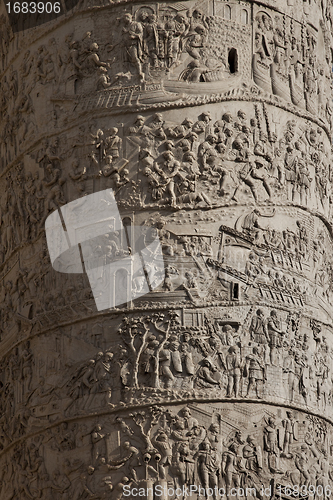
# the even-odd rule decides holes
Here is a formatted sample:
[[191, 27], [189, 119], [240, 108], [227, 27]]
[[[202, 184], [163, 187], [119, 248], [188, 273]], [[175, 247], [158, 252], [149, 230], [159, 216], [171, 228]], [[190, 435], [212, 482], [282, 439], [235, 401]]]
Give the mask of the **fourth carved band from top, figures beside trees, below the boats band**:
[[[2, 449], [48, 419], [180, 397], [283, 401], [330, 415], [333, 352], [325, 325], [267, 307], [248, 308], [242, 322], [201, 311], [200, 327], [183, 326], [182, 314], [83, 325], [75, 342], [91, 354], [82, 361], [60, 356], [66, 328], [43, 360], [32, 341], [22, 342], [3, 361]], [[116, 344], [109, 343], [117, 323]]]

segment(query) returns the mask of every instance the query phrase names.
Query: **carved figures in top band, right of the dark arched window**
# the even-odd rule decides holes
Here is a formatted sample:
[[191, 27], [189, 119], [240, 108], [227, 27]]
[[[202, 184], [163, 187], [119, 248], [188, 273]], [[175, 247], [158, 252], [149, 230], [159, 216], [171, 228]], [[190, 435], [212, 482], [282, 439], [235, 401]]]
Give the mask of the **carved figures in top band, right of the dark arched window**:
[[318, 33], [309, 25], [261, 11], [255, 19], [253, 78], [267, 92], [331, 122], [330, 56], [327, 51], [326, 60], [318, 59], [317, 47]]

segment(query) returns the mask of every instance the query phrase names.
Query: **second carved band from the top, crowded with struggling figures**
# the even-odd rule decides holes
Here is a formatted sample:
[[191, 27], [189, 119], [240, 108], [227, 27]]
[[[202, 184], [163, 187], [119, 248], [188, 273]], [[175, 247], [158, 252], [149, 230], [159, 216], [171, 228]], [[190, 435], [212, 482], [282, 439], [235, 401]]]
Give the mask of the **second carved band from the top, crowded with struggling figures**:
[[32, 173], [21, 163], [6, 175], [1, 260], [35, 240], [50, 212], [93, 186], [113, 188], [123, 206], [212, 207], [284, 199], [330, 217], [332, 172], [321, 129], [311, 124], [301, 129], [290, 120], [277, 137], [265, 107], [255, 111], [256, 117], [242, 110], [236, 116], [222, 112], [217, 121], [203, 112], [196, 122], [185, 118], [178, 125], [159, 113], [150, 119], [139, 115], [125, 131], [138, 155], [134, 165], [123, 156], [116, 127], [91, 134], [86, 146], [91, 142], [91, 151], [82, 159], [60, 150], [59, 138], [45, 141], [35, 154], [40, 170]]

